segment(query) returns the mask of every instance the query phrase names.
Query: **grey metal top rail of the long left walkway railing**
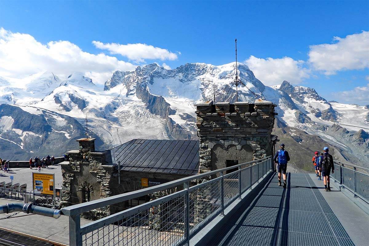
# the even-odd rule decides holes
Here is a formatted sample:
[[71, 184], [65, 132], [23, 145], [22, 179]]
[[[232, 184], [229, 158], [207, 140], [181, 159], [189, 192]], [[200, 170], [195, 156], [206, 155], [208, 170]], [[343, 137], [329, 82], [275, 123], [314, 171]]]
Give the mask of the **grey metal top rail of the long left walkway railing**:
[[271, 157], [272, 156], [268, 156], [268, 157], [264, 157], [262, 159], [253, 160], [251, 162], [241, 163], [241, 164], [237, 164], [237, 165], [234, 165], [234, 166], [225, 167], [225, 168], [222, 168], [222, 169], [208, 171], [206, 173], [196, 174], [196, 175], [193, 175], [193, 176], [173, 180], [173, 181], [170, 181], [170, 182], [167, 182], [167, 183], [164, 183], [164, 184], [144, 188], [144, 189], [141, 189], [141, 190], [131, 191], [131, 192], [124, 193], [124, 194], [119, 194], [119, 195], [113, 195], [111, 197], [106, 197], [106, 198], [100, 198], [100, 199], [97, 199], [97, 200], [84, 202], [84, 203], [81, 203], [81, 204], [71, 205], [71, 206], [62, 208], [61, 210], [62, 210], [63, 215], [81, 214], [83, 212], [90, 211], [92, 209], [96, 209], [96, 208], [116, 204], [116, 203], [119, 203], [119, 202], [131, 200], [131, 199], [134, 199], [134, 198], [137, 198], [137, 197], [142, 197], [143, 195], [151, 194], [151, 193], [154, 193], [156, 191], [165, 190], [167, 188], [172, 188], [174, 186], [184, 184], [186, 182], [190, 182], [190, 181], [195, 180], [195, 179], [201, 179], [203, 177], [208, 177], [208, 176], [211, 176], [211, 175], [214, 175], [214, 174], [217, 174], [217, 173], [221, 173], [221, 172], [224, 172], [224, 171], [227, 171], [227, 170], [230, 170], [230, 169], [235, 169], [237, 167], [244, 166], [246, 164], [252, 164], [252, 163], [256, 164], [256, 163], [262, 162], [264, 160], [267, 160]]

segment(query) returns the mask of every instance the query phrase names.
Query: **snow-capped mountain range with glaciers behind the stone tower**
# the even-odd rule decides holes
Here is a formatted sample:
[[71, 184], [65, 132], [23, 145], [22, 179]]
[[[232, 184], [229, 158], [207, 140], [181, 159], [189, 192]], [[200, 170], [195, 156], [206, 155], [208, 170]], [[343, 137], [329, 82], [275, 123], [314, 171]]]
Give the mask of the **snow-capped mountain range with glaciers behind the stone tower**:
[[[369, 157], [368, 108], [329, 103], [314, 89], [292, 86], [286, 81], [279, 86], [264, 86], [246, 65], [238, 64], [237, 68], [245, 84], [238, 87], [238, 100], [253, 103], [261, 97], [277, 104], [276, 129], [280, 130], [276, 131], [281, 139], [282, 135], [288, 136], [286, 141], [296, 145], [296, 151], [303, 149], [306, 156], [310, 156], [310, 152], [320, 150], [314, 150], [318, 148], [315, 145], [321, 148], [330, 143], [340, 160], [359, 163]], [[83, 126], [87, 115], [89, 129], [109, 147], [132, 138], [195, 139], [194, 103], [214, 97], [216, 102], [232, 103], [236, 99], [235, 87], [230, 87], [235, 77], [235, 63], [221, 66], [187, 63], [170, 70], [150, 64], [134, 71], [114, 72], [104, 88], [80, 73], [73, 73], [65, 81], [59, 81], [52, 73], [30, 77], [23, 87], [17, 88], [14, 80], [1, 78], [1, 102], [65, 115]], [[39, 90], [31, 96], [24, 93], [35, 80], [49, 85], [52, 91]], [[334, 124], [342, 125], [347, 133], [338, 134]], [[4, 129], [0, 128], [0, 137], [7, 139]], [[359, 132], [360, 129], [363, 131]], [[21, 146], [21, 142], [16, 143]], [[20, 148], [20, 151], [23, 150]]]

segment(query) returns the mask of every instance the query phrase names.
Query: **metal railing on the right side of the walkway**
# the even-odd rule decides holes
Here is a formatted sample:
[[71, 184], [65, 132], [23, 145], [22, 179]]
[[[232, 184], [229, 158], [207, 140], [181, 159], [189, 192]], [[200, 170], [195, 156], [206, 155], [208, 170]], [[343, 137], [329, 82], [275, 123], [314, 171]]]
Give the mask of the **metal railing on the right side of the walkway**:
[[369, 169], [349, 163], [336, 161], [334, 163], [334, 173], [331, 174], [334, 181], [339, 182], [343, 188], [351, 191], [354, 197], [359, 197], [369, 204], [369, 175], [356, 170], [369, 171]]

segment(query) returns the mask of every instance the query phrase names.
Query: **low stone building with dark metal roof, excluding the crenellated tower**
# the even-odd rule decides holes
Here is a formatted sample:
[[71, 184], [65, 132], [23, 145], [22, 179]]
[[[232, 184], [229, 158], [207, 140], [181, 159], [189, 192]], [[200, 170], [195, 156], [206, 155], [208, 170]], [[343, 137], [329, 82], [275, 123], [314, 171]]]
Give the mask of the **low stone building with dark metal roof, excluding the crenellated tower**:
[[[61, 163], [62, 207], [166, 183], [199, 170], [199, 141], [132, 139], [114, 149], [96, 151], [94, 140], [78, 139], [79, 150], [69, 151], [69, 161]], [[173, 187], [163, 194], [180, 188]], [[128, 200], [84, 216], [100, 218], [163, 194]]]

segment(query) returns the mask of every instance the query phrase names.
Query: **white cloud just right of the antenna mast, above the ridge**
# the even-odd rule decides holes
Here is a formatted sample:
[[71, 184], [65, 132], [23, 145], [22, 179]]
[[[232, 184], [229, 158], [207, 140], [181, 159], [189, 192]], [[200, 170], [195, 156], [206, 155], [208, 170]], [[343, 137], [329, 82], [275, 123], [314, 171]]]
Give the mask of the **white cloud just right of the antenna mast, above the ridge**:
[[267, 86], [280, 84], [283, 80], [298, 84], [308, 78], [310, 72], [304, 67], [303, 60], [294, 60], [287, 56], [276, 59], [250, 56], [245, 63], [254, 72], [255, 77]]

